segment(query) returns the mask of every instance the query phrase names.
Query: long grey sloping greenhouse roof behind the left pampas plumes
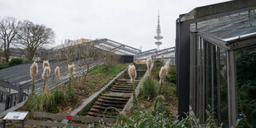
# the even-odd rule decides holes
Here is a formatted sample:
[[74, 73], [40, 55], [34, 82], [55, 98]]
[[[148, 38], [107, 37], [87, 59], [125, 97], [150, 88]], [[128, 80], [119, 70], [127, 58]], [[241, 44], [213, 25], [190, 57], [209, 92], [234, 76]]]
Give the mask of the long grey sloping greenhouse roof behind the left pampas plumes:
[[[78, 65], [85, 65], [83, 64], [83, 61], [73, 61], [71, 62], [75, 64], [75, 68], [73, 70], [73, 74], [75, 77], [79, 76], [82, 74], [81, 70], [79, 70], [77, 67]], [[59, 71], [60, 71], [60, 76], [59, 76], [59, 85], [66, 83], [69, 81], [69, 71], [68, 71], [68, 64], [71, 64], [68, 61], [50, 61], [50, 77], [48, 79], [48, 86], [51, 89], [55, 88], [55, 67], [59, 66]], [[43, 73], [43, 68], [42, 68], [42, 62], [38, 62], [38, 73], [36, 76], [36, 92], [42, 92], [42, 87], [44, 85], [44, 80], [41, 77], [41, 74]], [[98, 64], [96, 61], [91, 62], [91, 65], [96, 65]], [[19, 90], [21, 88], [30, 88], [29, 92], [24, 90], [26, 93], [31, 92], [31, 76], [30, 76], [30, 66], [31, 63], [28, 64], [20, 64], [17, 66], [13, 66], [11, 68], [7, 69], [1, 69], [0, 72], [0, 85], [4, 88], [12, 88], [15, 90]], [[85, 67], [82, 66], [84, 69]]]

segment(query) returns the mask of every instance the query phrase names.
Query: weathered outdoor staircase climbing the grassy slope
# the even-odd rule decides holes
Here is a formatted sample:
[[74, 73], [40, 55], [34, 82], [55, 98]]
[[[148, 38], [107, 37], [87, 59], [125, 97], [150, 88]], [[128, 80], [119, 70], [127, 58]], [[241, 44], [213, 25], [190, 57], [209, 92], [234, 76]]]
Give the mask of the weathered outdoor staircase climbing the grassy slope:
[[[135, 68], [137, 71], [137, 77], [135, 78], [136, 88], [138, 83], [140, 83], [140, 78], [145, 75], [146, 65], [136, 64]], [[94, 102], [89, 109], [88, 116], [116, 118], [119, 112], [114, 109], [107, 109], [107, 107], [115, 107], [115, 109], [122, 111], [126, 106], [126, 102], [128, 102], [132, 95], [132, 92], [133, 86], [130, 83], [129, 73], [126, 72], [121, 78], [118, 78], [116, 82], [113, 83], [108, 92], [97, 98], [97, 101]]]

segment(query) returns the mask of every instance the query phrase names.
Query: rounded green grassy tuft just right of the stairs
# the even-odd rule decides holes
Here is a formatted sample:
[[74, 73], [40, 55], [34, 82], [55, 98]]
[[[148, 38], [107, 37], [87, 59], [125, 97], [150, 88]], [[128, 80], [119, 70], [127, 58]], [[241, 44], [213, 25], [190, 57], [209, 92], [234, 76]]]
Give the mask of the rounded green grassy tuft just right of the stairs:
[[154, 79], [151, 76], [148, 76], [145, 79], [145, 83], [143, 83], [142, 88], [140, 88], [140, 95], [142, 97], [145, 98], [154, 98], [157, 96], [158, 91], [159, 90], [159, 86], [158, 83], [156, 81], [154, 81]]

